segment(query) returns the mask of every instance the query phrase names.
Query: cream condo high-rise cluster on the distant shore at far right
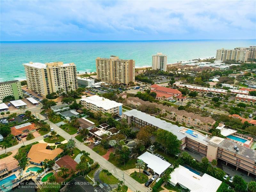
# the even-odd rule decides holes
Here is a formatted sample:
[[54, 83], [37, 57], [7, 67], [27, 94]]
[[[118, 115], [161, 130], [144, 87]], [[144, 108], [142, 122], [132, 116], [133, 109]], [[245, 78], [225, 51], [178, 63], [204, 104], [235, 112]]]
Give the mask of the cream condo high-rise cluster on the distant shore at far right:
[[216, 52], [216, 60], [226, 61], [249, 61], [256, 59], [256, 46], [236, 47], [235, 49], [218, 49]]

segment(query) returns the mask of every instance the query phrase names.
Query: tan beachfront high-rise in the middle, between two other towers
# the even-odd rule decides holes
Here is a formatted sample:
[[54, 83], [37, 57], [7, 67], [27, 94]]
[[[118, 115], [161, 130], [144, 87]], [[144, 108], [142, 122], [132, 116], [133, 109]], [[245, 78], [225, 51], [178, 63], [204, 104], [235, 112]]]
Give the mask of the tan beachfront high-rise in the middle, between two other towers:
[[135, 81], [135, 61], [119, 59], [111, 55], [110, 58], [96, 59], [97, 78], [112, 84], [129, 85]]

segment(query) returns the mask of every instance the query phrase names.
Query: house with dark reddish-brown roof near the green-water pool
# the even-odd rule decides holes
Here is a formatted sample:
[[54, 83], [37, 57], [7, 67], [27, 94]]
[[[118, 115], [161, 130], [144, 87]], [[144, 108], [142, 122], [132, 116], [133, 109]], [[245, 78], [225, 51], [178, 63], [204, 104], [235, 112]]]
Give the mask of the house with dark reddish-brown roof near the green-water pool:
[[71, 172], [71, 170], [74, 170], [76, 172], [76, 161], [74, 159], [72, 159], [69, 155], [65, 155], [63, 157], [61, 157], [60, 159], [58, 159], [55, 162], [55, 165], [53, 166], [53, 170], [56, 172], [54, 173], [54, 176], [56, 177], [56, 181], [57, 182], [62, 182], [64, 181], [64, 179], [62, 177], [58, 176], [58, 171], [60, 169], [60, 167], [65, 167], [68, 168], [68, 172]]

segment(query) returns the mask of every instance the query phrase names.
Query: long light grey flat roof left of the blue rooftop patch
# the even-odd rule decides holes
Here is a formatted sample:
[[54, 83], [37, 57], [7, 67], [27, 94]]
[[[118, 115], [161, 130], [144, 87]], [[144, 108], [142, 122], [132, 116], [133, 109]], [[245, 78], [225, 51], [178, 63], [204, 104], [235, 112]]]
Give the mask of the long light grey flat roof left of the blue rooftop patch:
[[139, 118], [139, 119], [141, 119], [141, 120], [143, 120], [143, 121], [145, 121], [149, 124], [152, 124], [152, 125], [158, 127], [159, 129], [164, 129], [166, 131], [172, 132], [174, 135], [177, 136], [178, 140], [182, 140], [183, 138], [186, 137], [186, 135], [184, 133], [179, 132], [179, 130], [182, 127], [178, 127], [177, 125], [168, 123], [164, 120], [158, 119], [154, 116], [151, 116], [151, 115], [148, 115], [148, 114], [143, 113], [141, 111], [138, 111], [137, 109], [132, 109], [130, 111], [125, 111], [123, 114], [127, 115], [127, 116], [137, 117], [137, 118]]

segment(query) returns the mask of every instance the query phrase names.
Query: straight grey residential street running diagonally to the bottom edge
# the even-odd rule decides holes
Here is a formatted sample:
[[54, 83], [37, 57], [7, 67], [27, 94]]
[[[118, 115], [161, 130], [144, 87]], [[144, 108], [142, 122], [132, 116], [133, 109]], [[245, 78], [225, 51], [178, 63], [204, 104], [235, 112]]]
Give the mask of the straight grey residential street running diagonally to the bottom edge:
[[[63, 138], [66, 140], [74, 139], [76, 141], [76, 147], [81, 151], [86, 151], [90, 153], [90, 157], [100, 164], [100, 166], [103, 169], [107, 169], [109, 172], [111, 172], [117, 179], [124, 180], [124, 185], [126, 185], [128, 188], [130, 188], [132, 191], [148, 191], [148, 189], [145, 186], [142, 186], [138, 181], [132, 179], [127, 173], [120, 170], [118, 167], [111, 164], [109, 161], [104, 159], [102, 156], [94, 152], [91, 148], [85, 146], [82, 142], [78, 141], [76, 138], [73, 138], [72, 135], [69, 135], [67, 132], [59, 128], [57, 125], [53, 124], [51, 121], [46, 120], [46, 123], [50, 124], [51, 127], [54, 128], [54, 130], [60, 134]], [[124, 179], [123, 179], [124, 178]]]

